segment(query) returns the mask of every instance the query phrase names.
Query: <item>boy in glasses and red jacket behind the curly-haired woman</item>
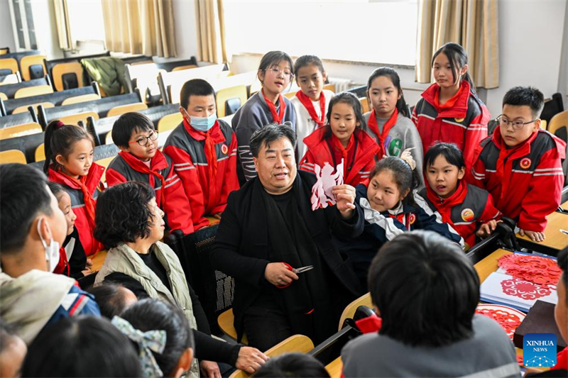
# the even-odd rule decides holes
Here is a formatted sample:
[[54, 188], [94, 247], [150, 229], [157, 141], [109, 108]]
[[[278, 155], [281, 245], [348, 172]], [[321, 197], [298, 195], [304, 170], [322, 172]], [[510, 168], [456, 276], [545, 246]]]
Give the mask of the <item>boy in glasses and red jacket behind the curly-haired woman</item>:
[[125, 113], [112, 126], [112, 140], [121, 152], [107, 168], [107, 185], [129, 181], [150, 184], [170, 232], [192, 233], [190, 202], [173, 161], [158, 150], [158, 132], [152, 121], [140, 113]]

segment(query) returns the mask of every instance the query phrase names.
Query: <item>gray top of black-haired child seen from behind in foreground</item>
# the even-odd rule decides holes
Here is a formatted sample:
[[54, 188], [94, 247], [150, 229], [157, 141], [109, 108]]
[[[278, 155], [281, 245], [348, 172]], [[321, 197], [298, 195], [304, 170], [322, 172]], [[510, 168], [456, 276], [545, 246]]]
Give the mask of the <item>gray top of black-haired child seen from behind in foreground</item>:
[[[493, 319], [476, 314], [474, 335], [440, 348], [412, 347], [366, 333], [342, 350], [345, 377], [518, 378], [515, 347]], [[474, 375], [475, 374], [475, 375]]]

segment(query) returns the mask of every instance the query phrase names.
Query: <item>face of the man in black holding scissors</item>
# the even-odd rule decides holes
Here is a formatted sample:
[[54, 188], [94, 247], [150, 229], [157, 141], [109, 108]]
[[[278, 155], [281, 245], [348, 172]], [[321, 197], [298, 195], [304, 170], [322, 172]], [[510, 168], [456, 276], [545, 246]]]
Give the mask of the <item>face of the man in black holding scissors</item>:
[[258, 157], [254, 157], [258, 179], [270, 194], [283, 194], [292, 188], [296, 179], [294, 147], [288, 138], [282, 137], [262, 145]]

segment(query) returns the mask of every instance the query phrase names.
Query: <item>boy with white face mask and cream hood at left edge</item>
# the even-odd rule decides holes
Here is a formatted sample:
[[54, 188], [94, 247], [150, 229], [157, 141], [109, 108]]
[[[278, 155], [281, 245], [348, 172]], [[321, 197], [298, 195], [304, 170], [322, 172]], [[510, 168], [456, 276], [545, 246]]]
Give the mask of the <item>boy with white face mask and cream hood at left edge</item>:
[[100, 315], [75, 279], [52, 273], [67, 222], [38, 169], [0, 165], [0, 225], [0, 316], [27, 344], [60, 318]]

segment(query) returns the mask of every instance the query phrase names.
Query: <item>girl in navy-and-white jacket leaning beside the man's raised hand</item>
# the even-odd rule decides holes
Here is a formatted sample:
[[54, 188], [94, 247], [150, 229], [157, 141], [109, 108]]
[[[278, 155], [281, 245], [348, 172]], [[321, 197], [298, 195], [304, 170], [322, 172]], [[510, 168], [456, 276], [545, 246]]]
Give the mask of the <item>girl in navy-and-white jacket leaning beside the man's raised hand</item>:
[[339, 250], [349, 255], [361, 284], [366, 287], [367, 271], [378, 248], [396, 235], [412, 230], [430, 230], [459, 243], [464, 239], [442, 223], [424, 204], [415, 202], [411, 191], [420, 183], [416, 163], [408, 150], [400, 157], [389, 156], [377, 163], [368, 183], [357, 185], [355, 206], [365, 216], [364, 232], [356, 239], [339, 240]]

